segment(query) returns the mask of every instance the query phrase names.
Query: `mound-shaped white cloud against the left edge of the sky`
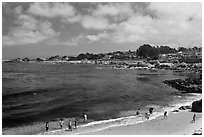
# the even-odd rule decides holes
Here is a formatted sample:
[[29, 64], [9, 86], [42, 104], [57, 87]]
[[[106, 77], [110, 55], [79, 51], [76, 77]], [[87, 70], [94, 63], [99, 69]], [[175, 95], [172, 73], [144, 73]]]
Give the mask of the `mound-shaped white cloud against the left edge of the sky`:
[[35, 44], [55, 37], [51, 22], [37, 20], [30, 15], [21, 14], [16, 21], [16, 27], [3, 36], [3, 46]]

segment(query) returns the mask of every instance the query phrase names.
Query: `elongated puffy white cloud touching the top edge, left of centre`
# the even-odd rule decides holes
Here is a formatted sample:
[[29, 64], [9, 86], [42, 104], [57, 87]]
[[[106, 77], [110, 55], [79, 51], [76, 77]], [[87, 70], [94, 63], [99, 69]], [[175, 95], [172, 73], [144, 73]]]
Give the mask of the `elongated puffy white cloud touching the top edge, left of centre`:
[[53, 17], [72, 17], [75, 15], [75, 9], [69, 3], [34, 3], [31, 4], [28, 13], [33, 15], [53, 18]]

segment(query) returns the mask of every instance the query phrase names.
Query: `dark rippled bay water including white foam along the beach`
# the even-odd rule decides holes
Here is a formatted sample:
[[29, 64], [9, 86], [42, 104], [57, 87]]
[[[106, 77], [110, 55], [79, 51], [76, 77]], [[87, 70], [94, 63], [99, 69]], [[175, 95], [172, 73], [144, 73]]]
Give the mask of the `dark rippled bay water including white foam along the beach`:
[[85, 64], [2, 63], [2, 126], [11, 128], [58, 118], [91, 121], [98, 130], [143, 122], [139, 108], [154, 118], [200, 98], [162, 83], [197, 77], [170, 70], [110, 69]]

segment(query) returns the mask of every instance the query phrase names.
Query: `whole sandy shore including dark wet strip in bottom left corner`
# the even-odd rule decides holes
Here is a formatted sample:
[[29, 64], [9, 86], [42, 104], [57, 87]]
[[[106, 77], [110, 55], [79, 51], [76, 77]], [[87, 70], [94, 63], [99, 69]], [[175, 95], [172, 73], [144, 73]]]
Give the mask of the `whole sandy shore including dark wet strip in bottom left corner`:
[[[181, 106], [179, 106], [181, 107]], [[174, 109], [177, 110], [178, 106]], [[173, 110], [173, 109], [172, 109]], [[67, 131], [65, 128], [54, 129], [49, 132], [44, 131], [44, 123], [36, 125], [17, 127], [14, 129], [3, 130], [3, 135], [192, 135], [195, 130], [202, 128], [202, 113], [191, 112], [190, 109], [179, 110], [179, 112], [172, 112], [168, 110], [168, 118], [164, 119], [163, 114], [156, 117], [150, 116], [149, 120], [143, 120], [135, 124], [121, 124], [121, 118], [118, 120], [111, 119], [109, 122], [94, 121], [86, 124], [78, 125], [77, 129]], [[154, 113], [153, 113], [154, 114]], [[153, 115], [152, 114], [152, 115]], [[196, 122], [191, 123], [193, 115], [196, 114]], [[128, 117], [129, 121], [134, 120], [135, 117]], [[126, 119], [126, 120], [127, 120]], [[118, 125], [110, 126], [113, 122]], [[54, 124], [58, 124], [55, 122]], [[120, 125], [121, 124], [121, 125]], [[41, 129], [40, 131], [37, 129]]]

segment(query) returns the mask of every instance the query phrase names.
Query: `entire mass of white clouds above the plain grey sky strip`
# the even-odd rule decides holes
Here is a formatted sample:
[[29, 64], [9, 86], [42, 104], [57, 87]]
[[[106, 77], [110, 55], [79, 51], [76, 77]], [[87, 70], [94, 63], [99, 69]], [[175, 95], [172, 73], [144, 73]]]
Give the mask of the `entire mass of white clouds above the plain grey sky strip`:
[[[67, 45], [100, 40], [154, 45], [202, 41], [201, 3], [96, 3], [86, 12], [77, 8], [69, 3], [32, 3], [27, 10], [17, 6], [13, 10], [18, 25], [3, 36], [3, 45], [49, 43], [50, 39]], [[63, 34], [52, 28], [60, 25], [76, 32], [68, 40], [61, 39]], [[69, 25], [80, 27], [69, 29]]]

